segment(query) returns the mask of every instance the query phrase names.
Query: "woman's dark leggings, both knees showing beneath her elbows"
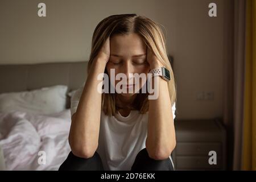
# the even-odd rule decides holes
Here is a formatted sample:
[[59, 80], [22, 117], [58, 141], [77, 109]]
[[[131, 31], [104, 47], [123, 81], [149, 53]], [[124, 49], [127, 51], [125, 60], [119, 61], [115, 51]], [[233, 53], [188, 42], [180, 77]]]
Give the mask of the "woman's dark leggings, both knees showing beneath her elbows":
[[[69, 153], [68, 158], [61, 164], [59, 171], [104, 171], [100, 155], [94, 153], [92, 158], [84, 159]], [[170, 158], [154, 160], [148, 156], [146, 148], [137, 154], [131, 171], [173, 171]]]

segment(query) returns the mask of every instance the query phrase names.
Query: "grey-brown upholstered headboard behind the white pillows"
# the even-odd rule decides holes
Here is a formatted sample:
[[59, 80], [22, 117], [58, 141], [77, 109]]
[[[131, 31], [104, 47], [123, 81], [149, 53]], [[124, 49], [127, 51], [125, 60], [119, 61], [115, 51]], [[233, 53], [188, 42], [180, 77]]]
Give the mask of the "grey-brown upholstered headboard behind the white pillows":
[[53, 85], [67, 85], [68, 91], [78, 89], [86, 80], [87, 64], [87, 61], [82, 61], [0, 65], [0, 93]]

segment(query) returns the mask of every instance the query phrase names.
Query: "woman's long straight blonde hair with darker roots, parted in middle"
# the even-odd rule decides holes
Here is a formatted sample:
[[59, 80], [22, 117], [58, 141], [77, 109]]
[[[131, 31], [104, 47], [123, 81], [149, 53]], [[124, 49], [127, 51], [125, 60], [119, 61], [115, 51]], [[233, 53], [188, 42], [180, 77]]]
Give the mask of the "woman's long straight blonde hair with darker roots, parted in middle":
[[[92, 67], [93, 60], [98, 55], [98, 52], [108, 37], [131, 33], [141, 36], [147, 48], [151, 49], [158, 60], [170, 71], [171, 80], [168, 81], [168, 89], [171, 105], [174, 105], [174, 102], [176, 102], [176, 85], [174, 73], [170, 61], [168, 60], [166, 40], [164, 39], [163, 32], [158, 26], [158, 23], [145, 16], [139, 16], [137, 14], [120, 14], [112, 15], [101, 20], [93, 32], [92, 49], [87, 70], [88, 73]], [[106, 69], [105, 73], [107, 73]], [[148, 111], [147, 96], [148, 94], [146, 93], [138, 93], [133, 109], [139, 110], [142, 114], [146, 113]], [[119, 107], [115, 103], [115, 93], [102, 93], [102, 109], [105, 114], [111, 116], [116, 113]]]

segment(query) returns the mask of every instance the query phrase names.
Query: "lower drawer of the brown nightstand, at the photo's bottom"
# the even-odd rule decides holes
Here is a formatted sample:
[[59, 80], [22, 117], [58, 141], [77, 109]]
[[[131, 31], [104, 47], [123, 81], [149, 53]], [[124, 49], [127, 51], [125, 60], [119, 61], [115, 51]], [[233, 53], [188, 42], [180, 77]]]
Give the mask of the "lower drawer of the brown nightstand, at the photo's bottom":
[[221, 169], [222, 157], [217, 157], [217, 164], [210, 165], [208, 160], [210, 156], [177, 156], [177, 170], [204, 170], [204, 169]]

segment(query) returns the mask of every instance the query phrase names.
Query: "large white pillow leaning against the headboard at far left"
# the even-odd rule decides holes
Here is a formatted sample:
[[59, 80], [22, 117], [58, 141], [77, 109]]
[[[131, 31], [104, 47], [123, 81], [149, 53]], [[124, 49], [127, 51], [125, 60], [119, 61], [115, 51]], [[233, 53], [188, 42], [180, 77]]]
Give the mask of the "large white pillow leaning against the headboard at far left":
[[66, 85], [0, 94], [0, 112], [24, 111], [34, 114], [53, 114], [63, 111], [67, 101]]

